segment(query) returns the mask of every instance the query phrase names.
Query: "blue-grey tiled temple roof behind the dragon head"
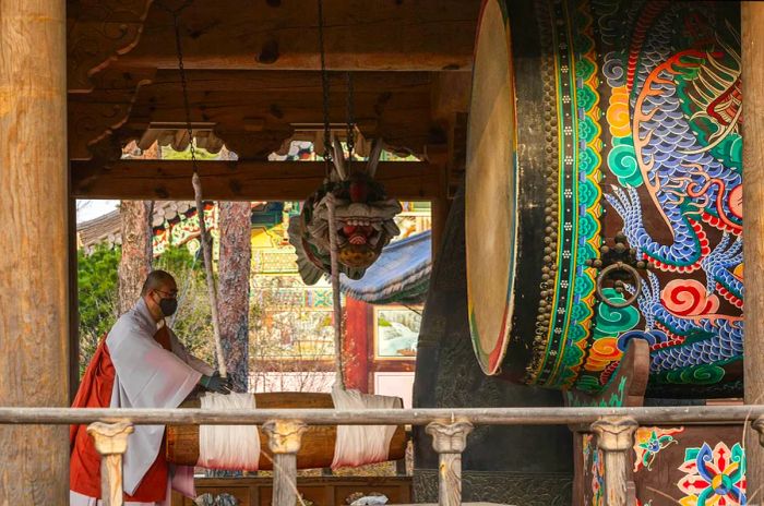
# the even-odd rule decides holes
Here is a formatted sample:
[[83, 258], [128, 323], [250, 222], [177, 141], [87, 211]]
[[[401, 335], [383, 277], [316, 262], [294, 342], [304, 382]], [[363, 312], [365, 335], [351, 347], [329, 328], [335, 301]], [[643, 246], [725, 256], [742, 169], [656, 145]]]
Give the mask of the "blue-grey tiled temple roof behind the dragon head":
[[393, 242], [361, 279], [343, 275], [339, 288], [347, 297], [372, 304], [423, 302], [432, 270], [431, 249], [429, 230]]

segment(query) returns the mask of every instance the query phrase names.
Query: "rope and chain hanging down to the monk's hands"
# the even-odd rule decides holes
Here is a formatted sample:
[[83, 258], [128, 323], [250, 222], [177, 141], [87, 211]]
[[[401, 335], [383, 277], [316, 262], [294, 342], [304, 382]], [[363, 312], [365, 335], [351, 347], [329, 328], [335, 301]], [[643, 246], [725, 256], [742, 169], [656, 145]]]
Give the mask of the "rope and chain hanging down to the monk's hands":
[[180, 43], [180, 17], [179, 14], [191, 1], [187, 1], [175, 11], [163, 9], [172, 15], [172, 24], [175, 26], [175, 44], [178, 52], [178, 72], [180, 73], [180, 86], [183, 95], [183, 109], [186, 111], [186, 131], [189, 136], [189, 147], [191, 149], [191, 166], [193, 167], [193, 176], [191, 184], [193, 185], [193, 196], [196, 203], [196, 216], [199, 218], [199, 240], [202, 243], [202, 256], [204, 257], [204, 275], [207, 280], [207, 294], [210, 297], [210, 310], [212, 313], [212, 328], [215, 339], [215, 354], [217, 356], [217, 369], [220, 376], [227, 377], [228, 370], [226, 369], [226, 359], [223, 354], [223, 342], [220, 341], [220, 320], [217, 313], [217, 287], [215, 286], [215, 276], [212, 269], [212, 241], [207, 232], [206, 224], [204, 222], [204, 200], [202, 194], [202, 181], [199, 177], [199, 165], [196, 162], [196, 148], [193, 143], [193, 128], [191, 124], [191, 105], [189, 104], [188, 80], [186, 77], [186, 68], [183, 67], [183, 50]]

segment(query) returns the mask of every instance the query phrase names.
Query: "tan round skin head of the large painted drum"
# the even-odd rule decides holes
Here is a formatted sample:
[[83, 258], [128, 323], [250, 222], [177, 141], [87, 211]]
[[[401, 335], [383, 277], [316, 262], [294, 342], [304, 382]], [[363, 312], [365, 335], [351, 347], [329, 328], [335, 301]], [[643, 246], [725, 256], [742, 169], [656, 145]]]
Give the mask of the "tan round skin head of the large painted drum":
[[486, 374], [506, 352], [516, 264], [516, 149], [508, 20], [498, 0], [484, 4], [469, 108], [466, 248], [469, 327]]

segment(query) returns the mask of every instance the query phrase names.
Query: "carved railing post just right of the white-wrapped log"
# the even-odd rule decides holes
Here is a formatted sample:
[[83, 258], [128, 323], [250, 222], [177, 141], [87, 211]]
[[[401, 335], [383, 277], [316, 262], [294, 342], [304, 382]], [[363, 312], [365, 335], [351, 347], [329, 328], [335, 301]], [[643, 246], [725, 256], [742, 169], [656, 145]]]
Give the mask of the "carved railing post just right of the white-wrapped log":
[[467, 435], [473, 424], [466, 421], [453, 423], [432, 422], [427, 433], [432, 436], [432, 447], [438, 451], [438, 504], [462, 504], [462, 451], [467, 446]]

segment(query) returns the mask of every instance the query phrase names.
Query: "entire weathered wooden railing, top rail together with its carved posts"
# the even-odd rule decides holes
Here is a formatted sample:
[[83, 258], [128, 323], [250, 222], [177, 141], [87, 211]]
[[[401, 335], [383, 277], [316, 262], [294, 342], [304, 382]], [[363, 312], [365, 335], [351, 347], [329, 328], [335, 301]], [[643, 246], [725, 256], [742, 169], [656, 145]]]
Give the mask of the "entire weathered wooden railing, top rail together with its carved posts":
[[590, 424], [604, 453], [607, 506], [633, 506], [628, 450], [640, 423], [749, 424], [764, 445], [764, 405], [664, 408], [473, 408], [357, 410], [2, 408], [0, 424], [89, 424], [102, 460], [104, 504], [122, 505], [122, 454], [134, 424], [262, 425], [274, 456], [273, 505], [295, 506], [296, 457], [307, 425], [426, 425], [440, 458], [439, 504], [462, 503], [462, 453], [475, 425]]

